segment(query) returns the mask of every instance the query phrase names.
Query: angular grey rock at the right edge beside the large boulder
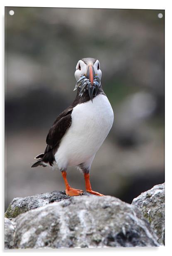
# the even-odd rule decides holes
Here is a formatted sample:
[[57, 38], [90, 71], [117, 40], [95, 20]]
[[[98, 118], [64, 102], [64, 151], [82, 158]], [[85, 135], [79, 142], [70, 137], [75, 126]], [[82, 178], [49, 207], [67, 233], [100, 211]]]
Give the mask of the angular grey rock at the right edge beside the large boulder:
[[136, 205], [148, 220], [159, 242], [165, 244], [165, 183], [141, 193], [133, 199], [132, 204]]

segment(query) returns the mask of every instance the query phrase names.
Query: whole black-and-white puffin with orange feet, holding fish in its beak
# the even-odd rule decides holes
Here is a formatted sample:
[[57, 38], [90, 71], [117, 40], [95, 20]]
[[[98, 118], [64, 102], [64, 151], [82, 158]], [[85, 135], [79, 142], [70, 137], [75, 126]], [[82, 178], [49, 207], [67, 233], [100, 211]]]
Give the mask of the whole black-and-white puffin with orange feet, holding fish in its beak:
[[95, 154], [107, 137], [114, 122], [111, 104], [102, 89], [102, 71], [98, 59], [83, 58], [76, 65], [75, 79], [77, 90], [73, 103], [54, 121], [46, 137], [44, 153], [31, 167], [43, 166], [57, 168], [65, 182], [65, 193], [78, 196], [83, 190], [70, 187], [67, 180], [67, 168], [77, 167], [83, 172], [86, 191], [92, 190], [90, 169]]

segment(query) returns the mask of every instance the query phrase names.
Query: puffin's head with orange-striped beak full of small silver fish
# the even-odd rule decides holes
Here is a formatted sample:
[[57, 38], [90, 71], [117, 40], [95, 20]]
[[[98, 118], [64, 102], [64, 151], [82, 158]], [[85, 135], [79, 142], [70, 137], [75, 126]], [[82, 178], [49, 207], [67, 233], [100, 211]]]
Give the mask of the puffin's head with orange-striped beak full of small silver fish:
[[76, 65], [75, 78], [77, 83], [74, 91], [80, 87], [80, 96], [82, 96], [87, 89], [92, 100], [94, 89], [96, 95], [98, 88], [101, 85], [101, 77], [102, 71], [100, 70], [98, 59], [80, 59]]

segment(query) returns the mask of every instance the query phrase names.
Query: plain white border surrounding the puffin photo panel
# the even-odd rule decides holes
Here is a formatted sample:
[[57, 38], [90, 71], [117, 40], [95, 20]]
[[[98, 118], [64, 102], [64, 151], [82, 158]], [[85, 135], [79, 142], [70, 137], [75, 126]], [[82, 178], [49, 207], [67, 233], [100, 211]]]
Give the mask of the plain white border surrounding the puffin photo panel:
[[[171, 24], [172, 24], [172, 19], [171, 19], [171, 3], [170, 0], [149, 0], [149, 1], [135, 1], [135, 0], [121, 0], [121, 1], [36, 1], [36, 0], [30, 0], [30, 1], [21, 1], [21, 0], [15, 0], [15, 1], [2, 1], [1, 3], [1, 40], [0, 43], [2, 44], [1, 46], [1, 94], [0, 94], [0, 102], [1, 102], [1, 111], [0, 111], [0, 118], [2, 121], [2, 126], [0, 130], [0, 141], [4, 141], [4, 125], [3, 125], [3, 120], [4, 120], [4, 6], [32, 6], [32, 7], [77, 7], [77, 8], [85, 8], [85, 7], [90, 7], [90, 8], [120, 8], [120, 9], [157, 9], [157, 10], [163, 10], [165, 9], [165, 176], [166, 176], [166, 246], [165, 247], [159, 247], [159, 248], [102, 248], [102, 249], [26, 249], [26, 250], [3, 250], [4, 247], [4, 233], [2, 233], [2, 237], [0, 241], [1, 243], [1, 251], [2, 253], [29, 253], [29, 254], [34, 254], [34, 253], [60, 253], [60, 254], [82, 254], [83, 256], [88, 254], [88, 253], [94, 253], [94, 254], [99, 254], [99, 255], [104, 255], [105, 253], [112, 255], [114, 253], [118, 253], [120, 255], [161, 255], [162, 253], [167, 254], [167, 250], [171, 251], [170, 248], [170, 243], [171, 243], [171, 204], [169, 202], [172, 201], [172, 192], [170, 190], [171, 187], [171, 182], [172, 177], [172, 163], [171, 163], [171, 134], [172, 134], [172, 106], [171, 106], [171, 98], [172, 98], [172, 54], [171, 54], [171, 48], [172, 48], [172, 39], [170, 37], [170, 31], [171, 31]], [[0, 162], [4, 162], [4, 146], [1, 145], [0, 148]], [[4, 165], [2, 164], [1, 168], [1, 182], [2, 182], [2, 189], [4, 188], [4, 175], [3, 175], [3, 168]], [[1, 194], [4, 194], [2, 191]], [[1, 206], [3, 209], [4, 205], [4, 199], [2, 198]], [[1, 231], [4, 229], [4, 223], [3, 223], [3, 212], [1, 212]], [[167, 254], [168, 255], [168, 254]]]

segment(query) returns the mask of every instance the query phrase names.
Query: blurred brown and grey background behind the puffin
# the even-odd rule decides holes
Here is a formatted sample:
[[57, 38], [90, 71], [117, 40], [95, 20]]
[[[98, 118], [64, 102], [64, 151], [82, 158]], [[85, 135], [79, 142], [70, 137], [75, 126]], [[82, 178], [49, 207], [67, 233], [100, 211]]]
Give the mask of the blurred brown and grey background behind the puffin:
[[[6, 8], [7, 205], [14, 197], [64, 190], [60, 171], [30, 166], [44, 152], [53, 121], [75, 98], [75, 66], [83, 57], [99, 59], [115, 114], [92, 164], [93, 189], [131, 202], [164, 182], [164, 15]], [[68, 170], [68, 180], [85, 188], [75, 168]]]

